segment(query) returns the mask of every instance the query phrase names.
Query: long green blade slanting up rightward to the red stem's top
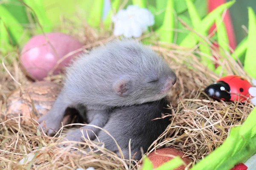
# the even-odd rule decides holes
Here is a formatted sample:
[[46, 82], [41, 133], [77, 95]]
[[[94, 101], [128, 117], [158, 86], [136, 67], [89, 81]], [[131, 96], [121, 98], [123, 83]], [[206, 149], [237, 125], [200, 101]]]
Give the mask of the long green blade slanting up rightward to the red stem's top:
[[[230, 8], [230, 6], [232, 6], [235, 2], [236, 0], [232, 0], [215, 8], [206, 17], [204, 17], [204, 19], [201, 21], [201, 24], [196, 26], [194, 30], [199, 34], [207, 32], [212, 24], [215, 22], [216, 16], [221, 15], [225, 9]], [[195, 41], [192, 41], [193, 38], [194, 33], [189, 33], [189, 35], [180, 43], [180, 46], [193, 48], [195, 46]]]

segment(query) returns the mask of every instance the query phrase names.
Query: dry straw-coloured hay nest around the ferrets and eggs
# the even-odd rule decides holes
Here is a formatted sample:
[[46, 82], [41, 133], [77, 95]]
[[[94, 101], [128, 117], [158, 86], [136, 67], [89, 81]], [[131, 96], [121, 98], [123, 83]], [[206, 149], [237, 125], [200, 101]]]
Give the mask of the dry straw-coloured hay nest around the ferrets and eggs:
[[[99, 34], [91, 28], [84, 28], [70, 32], [84, 43], [84, 52], [90, 51], [98, 45], [112, 40], [114, 37], [107, 33]], [[84, 31], [86, 30], [86, 31]], [[153, 36], [151, 33], [145, 37]], [[144, 38], [145, 38], [144, 37]], [[142, 37], [143, 38], [143, 37]], [[205, 37], [207, 43], [210, 40]], [[163, 55], [171, 68], [177, 74], [177, 83], [170, 93], [173, 119], [166, 131], [148, 149], [154, 152], [160, 147], [173, 147], [182, 150], [193, 159], [193, 164], [204, 159], [209, 153], [220, 146], [227, 138], [230, 128], [242, 125], [253, 105], [249, 102], [217, 102], [207, 97], [203, 90], [221, 75], [216, 75], [207, 70], [199, 61], [197, 47], [194, 49], [180, 48], [173, 44], [160, 44], [152, 41], [152, 49]], [[243, 71], [241, 65], [231, 56], [222, 57], [217, 49], [212, 49], [217, 58], [223, 58], [219, 64], [227, 74], [237, 74], [251, 80]], [[18, 62], [19, 54], [10, 53], [12, 63], [5, 62], [6, 69], [0, 74], [0, 168], [1, 169], [76, 169], [79, 167], [95, 167], [96, 169], [129, 169], [127, 161], [120, 159], [115, 154], [102, 149], [102, 154], [86, 153], [82, 147], [56, 147], [61, 137], [48, 137], [37, 130], [36, 121], [31, 125], [21, 122], [21, 117], [5, 119], [5, 107], [8, 94], [17, 88], [26, 88], [32, 83], [22, 72]], [[213, 60], [213, 57], [208, 56]], [[11, 77], [10, 74], [13, 76]], [[14, 80], [15, 79], [15, 80]], [[47, 77], [47, 81], [62, 84], [62, 75]], [[21, 85], [18, 85], [17, 82]], [[90, 141], [87, 145], [92, 145]], [[38, 148], [43, 148], [39, 149]], [[86, 155], [78, 154], [86, 153]], [[28, 153], [38, 151], [35, 158], [32, 156], [30, 164], [17, 164]], [[144, 151], [147, 152], [146, 150]], [[39, 159], [40, 157], [40, 159]], [[141, 160], [137, 161], [134, 169], [138, 169]], [[132, 166], [132, 165], [130, 165]]]

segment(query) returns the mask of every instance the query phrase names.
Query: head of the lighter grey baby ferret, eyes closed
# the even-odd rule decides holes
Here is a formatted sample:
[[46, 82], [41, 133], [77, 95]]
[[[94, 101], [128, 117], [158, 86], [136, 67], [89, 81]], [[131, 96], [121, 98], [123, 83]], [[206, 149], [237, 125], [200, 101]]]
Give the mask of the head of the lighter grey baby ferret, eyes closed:
[[162, 99], [176, 83], [174, 71], [151, 48], [132, 40], [117, 41], [110, 47], [111, 70], [118, 73], [113, 77], [118, 105]]

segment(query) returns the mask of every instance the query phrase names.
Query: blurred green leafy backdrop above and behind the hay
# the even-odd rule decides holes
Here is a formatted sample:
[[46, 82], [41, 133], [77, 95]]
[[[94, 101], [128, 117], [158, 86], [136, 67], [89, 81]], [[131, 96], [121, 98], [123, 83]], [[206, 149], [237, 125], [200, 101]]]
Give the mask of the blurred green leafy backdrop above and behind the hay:
[[[208, 11], [209, 1], [219, 5], [221, 5], [219, 2], [224, 3], [224, 0], [111, 0], [112, 8], [115, 10], [118, 10], [119, 6], [122, 6], [124, 2], [128, 2], [123, 6], [124, 8], [131, 4], [143, 4], [140, 7], [146, 7], [154, 14], [155, 24], [152, 28], [157, 33], [158, 40], [175, 43], [186, 48], [193, 48], [195, 45], [200, 44], [199, 49], [202, 54], [205, 54], [205, 56], [201, 56], [202, 62], [209, 69], [215, 71], [217, 66], [214, 66], [209, 57], [206, 57], [212, 56], [209, 45], [203, 44], [201, 37], [194, 37], [195, 35], [192, 35], [193, 33], [184, 28], [183, 24], [177, 20], [177, 17], [179, 17], [189, 27], [204, 36], [207, 36], [207, 31], [213, 23], [218, 23], [217, 34], [212, 39], [217, 41], [221, 48], [230, 53], [227, 46], [230, 43], [227, 38], [227, 31], [223, 22], [218, 22], [221, 21], [221, 14], [224, 8], [222, 6], [217, 10], [218, 12], [210, 15]], [[246, 30], [249, 23], [247, 7], [250, 6], [253, 12], [256, 11], [256, 1], [236, 0], [235, 3], [230, 1], [232, 0], [226, 1], [229, 5], [222, 5], [229, 7], [236, 44], [240, 47], [235, 49], [235, 55], [232, 57], [236, 59], [237, 56], [242, 64], [248, 63], [245, 65], [245, 71], [256, 78], [256, 73], [252, 70], [254, 68], [251, 66], [251, 63], [256, 64], [256, 60], [253, 58], [253, 54], [246, 53], [248, 44], [251, 46], [254, 43], [256, 44], [256, 42], [253, 42], [254, 38], [250, 39], [250, 43], [241, 43], [239, 46], [239, 43], [247, 37]], [[45, 33], [52, 31], [70, 33], [70, 30], [67, 27], [65, 28], [63, 24], [69, 23], [73, 28], [79, 28], [84, 26], [84, 23], [88, 23], [90, 26], [102, 30], [99, 29], [102, 26], [102, 18], [105, 19], [103, 20], [104, 28], [109, 28], [111, 15], [113, 14], [109, 2], [109, 0], [0, 0], [0, 56], [1, 54], [2, 56], [6, 55], [8, 51], [14, 49], [13, 47], [22, 48], [30, 37], [41, 34], [42, 29]], [[203, 20], [204, 22], [202, 22]], [[254, 23], [253, 20], [252, 15], [251, 23]], [[38, 21], [42, 29], [38, 25]], [[253, 27], [251, 30], [256, 32]], [[76, 31], [76, 29], [73, 30]], [[109, 30], [105, 29], [105, 31]], [[251, 34], [253, 35], [254, 32], [251, 32]], [[154, 36], [151, 38], [154, 38]], [[250, 49], [252, 48], [254, 47], [250, 47]], [[233, 51], [230, 54], [232, 53]], [[223, 52], [221, 54], [225, 55]], [[218, 67], [215, 72], [219, 74], [221, 69], [222, 67]]]

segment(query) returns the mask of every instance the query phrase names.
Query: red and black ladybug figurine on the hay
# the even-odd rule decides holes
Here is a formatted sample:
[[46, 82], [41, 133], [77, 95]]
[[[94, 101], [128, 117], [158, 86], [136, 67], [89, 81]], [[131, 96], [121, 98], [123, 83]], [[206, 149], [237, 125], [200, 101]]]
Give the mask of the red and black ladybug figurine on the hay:
[[214, 99], [230, 101], [236, 99], [236, 101], [244, 102], [250, 96], [248, 93], [250, 87], [252, 87], [250, 82], [243, 77], [231, 75], [218, 79], [214, 84], [207, 86], [204, 92]]

